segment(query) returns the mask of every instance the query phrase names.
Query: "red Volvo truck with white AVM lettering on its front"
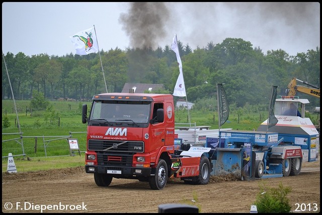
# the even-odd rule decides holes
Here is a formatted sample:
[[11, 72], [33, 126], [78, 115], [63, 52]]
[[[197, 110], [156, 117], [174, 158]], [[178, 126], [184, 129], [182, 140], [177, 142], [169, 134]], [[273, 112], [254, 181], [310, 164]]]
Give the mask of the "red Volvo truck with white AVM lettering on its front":
[[113, 178], [148, 181], [163, 189], [168, 178], [189, 184], [207, 184], [211, 162], [208, 147], [175, 141], [174, 100], [170, 94], [103, 93], [93, 96], [88, 114], [87, 173], [98, 186]]

